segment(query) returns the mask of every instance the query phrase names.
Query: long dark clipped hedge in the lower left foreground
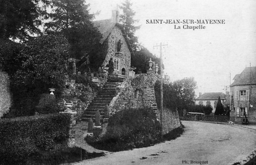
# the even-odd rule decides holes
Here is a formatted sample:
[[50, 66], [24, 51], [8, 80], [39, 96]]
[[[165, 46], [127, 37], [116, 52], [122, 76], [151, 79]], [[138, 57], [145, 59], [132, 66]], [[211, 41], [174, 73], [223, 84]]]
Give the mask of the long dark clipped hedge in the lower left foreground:
[[48, 114], [0, 120], [0, 157], [3, 162], [22, 162], [40, 151], [66, 143], [70, 115]]

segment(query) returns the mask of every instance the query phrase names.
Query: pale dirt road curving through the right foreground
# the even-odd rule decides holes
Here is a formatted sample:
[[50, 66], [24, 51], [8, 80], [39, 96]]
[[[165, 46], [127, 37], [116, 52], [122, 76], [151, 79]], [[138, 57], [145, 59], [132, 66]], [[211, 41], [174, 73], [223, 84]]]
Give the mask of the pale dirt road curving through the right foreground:
[[173, 141], [147, 148], [108, 152], [76, 165], [232, 165], [256, 146], [256, 130], [231, 125], [182, 121], [185, 132]]

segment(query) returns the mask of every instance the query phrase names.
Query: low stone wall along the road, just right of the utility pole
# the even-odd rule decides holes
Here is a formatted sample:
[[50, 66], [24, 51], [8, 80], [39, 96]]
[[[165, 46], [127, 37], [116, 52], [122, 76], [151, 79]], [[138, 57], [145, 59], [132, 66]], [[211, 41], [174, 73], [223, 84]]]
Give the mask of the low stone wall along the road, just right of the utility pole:
[[[160, 116], [160, 110], [159, 110], [159, 116]], [[171, 130], [175, 128], [181, 127], [180, 119], [178, 117], [178, 111], [163, 108], [162, 126], [163, 126], [163, 135], [168, 134]]]

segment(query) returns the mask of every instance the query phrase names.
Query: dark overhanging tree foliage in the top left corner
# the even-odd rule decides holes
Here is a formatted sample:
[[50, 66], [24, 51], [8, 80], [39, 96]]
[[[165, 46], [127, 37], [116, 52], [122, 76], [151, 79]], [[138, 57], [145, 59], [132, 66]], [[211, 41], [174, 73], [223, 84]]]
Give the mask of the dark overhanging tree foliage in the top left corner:
[[27, 39], [40, 34], [47, 0], [0, 0], [0, 38]]

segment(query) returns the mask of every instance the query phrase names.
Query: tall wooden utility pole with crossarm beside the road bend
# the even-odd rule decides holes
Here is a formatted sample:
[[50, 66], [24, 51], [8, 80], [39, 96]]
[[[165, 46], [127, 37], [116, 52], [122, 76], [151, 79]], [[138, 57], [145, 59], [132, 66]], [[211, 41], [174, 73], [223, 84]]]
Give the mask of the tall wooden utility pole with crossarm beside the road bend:
[[161, 92], [161, 108], [160, 108], [160, 135], [161, 135], [161, 139], [163, 137], [163, 124], [162, 124], [162, 121], [163, 121], [163, 56], [162, 56], [162, 46], [168, 46], [168, 44], [163, 44], [162, 45], [162, 42], [160, 43], [160, 45], [156, 45], [154, 47], [157, 47], [157, 46], [160, 46], [160, 75], [161, 75], [161, 78], [160, 78], [160, 92]]

